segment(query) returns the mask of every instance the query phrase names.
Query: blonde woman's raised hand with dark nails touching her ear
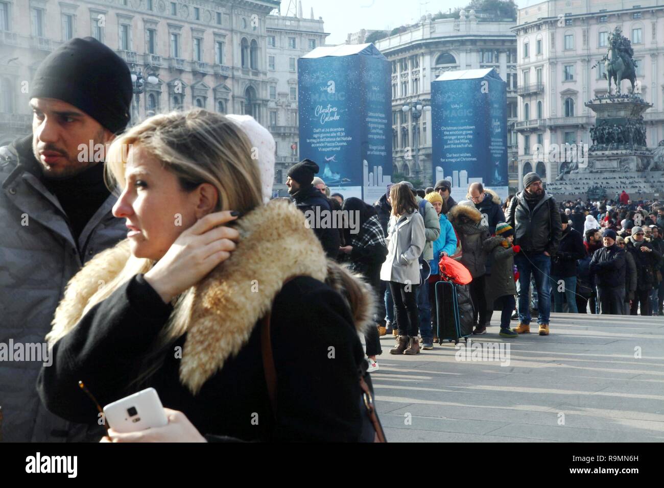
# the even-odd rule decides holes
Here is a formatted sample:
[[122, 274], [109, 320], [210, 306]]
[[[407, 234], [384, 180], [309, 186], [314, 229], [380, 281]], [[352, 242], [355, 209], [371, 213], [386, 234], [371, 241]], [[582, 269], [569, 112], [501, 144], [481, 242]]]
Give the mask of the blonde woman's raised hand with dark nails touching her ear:
[[236, 218], [237, 212], [224, 210], [199, 219], [180, 234], [163, 258], [145, 273], [145, 281], [165, 303], [197, 284], [230, 257], [240, 233], [234, 228], [218, 226]]

